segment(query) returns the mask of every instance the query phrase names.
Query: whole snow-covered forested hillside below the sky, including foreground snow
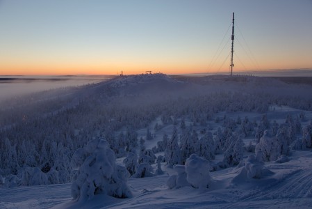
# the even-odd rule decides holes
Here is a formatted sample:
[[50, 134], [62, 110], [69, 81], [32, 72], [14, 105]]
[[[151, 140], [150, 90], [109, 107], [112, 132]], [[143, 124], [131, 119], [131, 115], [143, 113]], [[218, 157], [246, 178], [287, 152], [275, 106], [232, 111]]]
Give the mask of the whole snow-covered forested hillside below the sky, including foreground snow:
[[3, 100], [0, 208], [312, 207], [311, 92], [152, 74]]

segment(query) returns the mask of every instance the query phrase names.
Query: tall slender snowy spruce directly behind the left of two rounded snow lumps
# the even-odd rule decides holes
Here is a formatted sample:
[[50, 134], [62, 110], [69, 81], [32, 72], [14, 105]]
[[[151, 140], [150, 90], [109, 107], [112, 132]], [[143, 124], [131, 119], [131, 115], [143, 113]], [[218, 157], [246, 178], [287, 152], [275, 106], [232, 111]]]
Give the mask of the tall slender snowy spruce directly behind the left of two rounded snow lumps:
[[181, 151], [178, 144], [178, 130], [173, 127], [173, 133], [171, 139], [167, 143], [167, 148], [165, 149], [165, 160], [169, 167], [174, 164], [181, 164]]

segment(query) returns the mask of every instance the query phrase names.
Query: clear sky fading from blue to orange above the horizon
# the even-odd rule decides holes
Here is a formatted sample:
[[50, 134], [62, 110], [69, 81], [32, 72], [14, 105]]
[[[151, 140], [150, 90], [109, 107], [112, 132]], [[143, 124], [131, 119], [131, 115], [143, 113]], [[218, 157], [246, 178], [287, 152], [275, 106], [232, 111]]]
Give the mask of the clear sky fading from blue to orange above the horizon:
[[229, 71], [233, 12], [234, 71], [312, 68], [311, 0], [6, 0], [0, 75]]

